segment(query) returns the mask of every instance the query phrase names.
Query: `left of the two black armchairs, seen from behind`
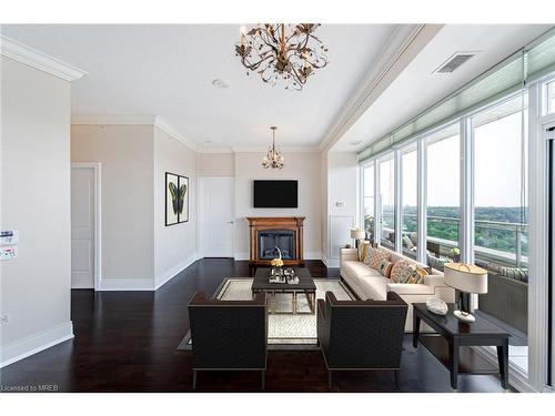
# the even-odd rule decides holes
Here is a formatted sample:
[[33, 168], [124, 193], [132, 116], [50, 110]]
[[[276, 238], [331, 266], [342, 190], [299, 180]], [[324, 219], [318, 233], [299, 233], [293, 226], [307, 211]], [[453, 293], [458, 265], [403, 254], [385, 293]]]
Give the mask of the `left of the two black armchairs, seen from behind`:
[[260, 371], [265, 385], [268, 313], [263, 293], [253, 301], [212, 301], [196, 293], [189, 303], [193, 389], [200, 371]]

